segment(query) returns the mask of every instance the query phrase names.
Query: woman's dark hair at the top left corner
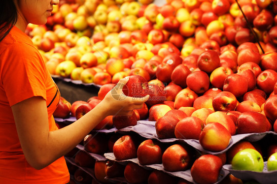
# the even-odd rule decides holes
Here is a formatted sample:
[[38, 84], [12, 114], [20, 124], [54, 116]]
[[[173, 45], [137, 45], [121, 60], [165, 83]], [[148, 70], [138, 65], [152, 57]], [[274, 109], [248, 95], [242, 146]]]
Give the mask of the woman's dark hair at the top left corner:
[[2, 0], [0, 6], [0, 41], [9, 33], [17, 21], [17, 10], [13, 0]]

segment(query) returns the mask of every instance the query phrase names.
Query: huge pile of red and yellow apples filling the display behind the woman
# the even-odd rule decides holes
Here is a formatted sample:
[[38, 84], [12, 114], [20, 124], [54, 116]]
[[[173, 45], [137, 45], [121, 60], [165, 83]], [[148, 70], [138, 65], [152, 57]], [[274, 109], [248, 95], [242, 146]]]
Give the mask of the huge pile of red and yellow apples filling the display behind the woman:
[[[154, 122], [159, 140], [193, 139], [206, 153], [233, 158], [232, 137], [277, 132], [276, 14], [274, 0], [61, 0], [46, 25], [30, 24], [26, 33], [53, 77], [101, 85], [86, 102], [61, 100], [67, 110], [56, 118], [79, 119], [120, 79], [138, 75], [129, 83], [148, 86], [134, 90], [150, 95], [143, 108], [107, 117], [95, 130]], [[275, 152], [238, 145], [236, 153], [254, 148], [264, 159]], [[205, 173], [192, 166], [192, 176]]]

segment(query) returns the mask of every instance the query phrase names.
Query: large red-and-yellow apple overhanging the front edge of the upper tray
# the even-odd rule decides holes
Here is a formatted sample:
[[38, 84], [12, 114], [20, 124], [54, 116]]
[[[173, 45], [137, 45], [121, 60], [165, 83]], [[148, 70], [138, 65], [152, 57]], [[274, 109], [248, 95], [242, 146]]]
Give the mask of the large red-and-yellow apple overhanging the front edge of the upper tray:
[[200, 145], [208, 151], [220, 152], [229, 146], [231, 133], [222, 124], [208, 123], [199, 136]]

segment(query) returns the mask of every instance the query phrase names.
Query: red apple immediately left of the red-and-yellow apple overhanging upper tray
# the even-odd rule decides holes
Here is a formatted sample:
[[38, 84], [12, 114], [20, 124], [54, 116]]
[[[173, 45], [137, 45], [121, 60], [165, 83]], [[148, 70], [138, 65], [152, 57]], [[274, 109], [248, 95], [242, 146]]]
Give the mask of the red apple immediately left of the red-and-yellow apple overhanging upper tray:
[[204, 126], [203, 121], [198, 117], [185, 117], [176, 124], [174, 134], [177, 139], [198, 140]]

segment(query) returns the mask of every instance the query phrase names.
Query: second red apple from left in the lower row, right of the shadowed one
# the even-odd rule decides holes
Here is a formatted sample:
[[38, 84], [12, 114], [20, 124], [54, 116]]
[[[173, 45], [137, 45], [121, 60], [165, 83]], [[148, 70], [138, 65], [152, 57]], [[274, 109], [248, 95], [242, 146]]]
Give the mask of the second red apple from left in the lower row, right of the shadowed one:
[[[123, 135], [113, 145], [113, 154], [117, 160], [137, 157], [137, 146], [130, 135]], [[128, 150], [128, 152], [126, 152]]]

